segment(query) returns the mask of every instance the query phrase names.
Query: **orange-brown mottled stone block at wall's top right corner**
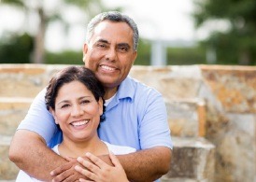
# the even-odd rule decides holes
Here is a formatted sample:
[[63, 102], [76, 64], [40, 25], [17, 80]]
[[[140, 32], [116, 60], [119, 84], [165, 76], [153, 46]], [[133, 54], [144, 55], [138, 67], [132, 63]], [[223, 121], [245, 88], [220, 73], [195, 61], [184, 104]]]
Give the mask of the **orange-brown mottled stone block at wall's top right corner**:
[[256, 113], [255, 66], [201, 66], [202, 77], [225, 112]]

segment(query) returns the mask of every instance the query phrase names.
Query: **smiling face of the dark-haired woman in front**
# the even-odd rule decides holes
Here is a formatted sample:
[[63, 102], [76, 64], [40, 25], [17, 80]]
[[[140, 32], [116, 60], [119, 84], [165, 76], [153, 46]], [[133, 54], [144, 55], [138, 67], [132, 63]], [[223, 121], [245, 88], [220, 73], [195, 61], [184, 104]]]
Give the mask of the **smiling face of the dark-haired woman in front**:
[[58, 91], [55, 110], [50, 109], [56, 124], [59, 124], [64, 139], [84, 141], [97, 136], [100, 116], [103, 114], [103, 101], [95, 100], [79, 81], [64, 84]]

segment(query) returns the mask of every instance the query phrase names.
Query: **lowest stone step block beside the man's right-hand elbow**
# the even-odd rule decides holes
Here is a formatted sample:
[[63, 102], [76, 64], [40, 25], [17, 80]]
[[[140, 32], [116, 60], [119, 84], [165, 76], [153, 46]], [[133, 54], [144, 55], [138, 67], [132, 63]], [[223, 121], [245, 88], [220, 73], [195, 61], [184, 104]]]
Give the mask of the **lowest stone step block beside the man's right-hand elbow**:
[[215, 175], [215, 146], [202, 137], [173, 137], [170, 171], [161, 180], [212, 182]]

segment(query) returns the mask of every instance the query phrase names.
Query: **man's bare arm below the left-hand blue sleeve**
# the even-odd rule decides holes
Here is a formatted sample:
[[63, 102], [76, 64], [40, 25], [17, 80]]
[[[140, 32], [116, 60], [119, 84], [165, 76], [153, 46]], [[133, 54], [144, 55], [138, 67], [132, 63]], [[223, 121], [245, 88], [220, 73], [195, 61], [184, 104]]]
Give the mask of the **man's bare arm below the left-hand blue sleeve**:
[[9, 159], [21, 170], [40, 180], [50, 180], [50, 171], [67, 161], [47, 147], [37, 133], [18, 130], [9, 148]]

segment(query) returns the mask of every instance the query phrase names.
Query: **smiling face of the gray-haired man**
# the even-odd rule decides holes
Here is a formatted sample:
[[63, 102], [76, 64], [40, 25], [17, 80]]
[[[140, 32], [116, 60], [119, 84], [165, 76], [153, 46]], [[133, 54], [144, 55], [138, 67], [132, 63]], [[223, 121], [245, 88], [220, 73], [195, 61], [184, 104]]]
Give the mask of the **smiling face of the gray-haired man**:
[[117, 88], [135, 62], [133, 30], [125, 22], [102, 21], [84, 45], [83, 62], [105, 88]]

